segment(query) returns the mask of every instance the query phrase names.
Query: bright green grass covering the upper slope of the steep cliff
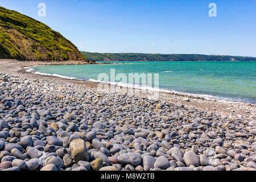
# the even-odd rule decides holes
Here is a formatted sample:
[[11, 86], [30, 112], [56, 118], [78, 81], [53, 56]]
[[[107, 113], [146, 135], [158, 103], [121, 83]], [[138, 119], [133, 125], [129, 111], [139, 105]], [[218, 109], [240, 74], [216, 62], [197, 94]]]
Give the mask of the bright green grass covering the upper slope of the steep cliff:
[[[37, 43], [35, 47], [43, 46], [50, 52], [60, 52], [60, 55], [63, 58], [67, 58], [67, 52], [73, 52], [77, 49], [69, 40], [65, 39], [59, 32], [52, 30], [46, 24], [1, 6], [0, 25], [14, 28], [28, 38], [35, 40]], [[2, 42], [5, 41], [8, 44], [8, 39], [9, 38], [2, 32], [0, 40]], [[18, 54], [18, 52], [15, 52], [15, 48], [10, 46], [10, 44], [6, 47], [10, 48], [10, 52], [13, 54]], [[84, 56], [81, 54], [79, 56], [81, 59], [84, 59]]]

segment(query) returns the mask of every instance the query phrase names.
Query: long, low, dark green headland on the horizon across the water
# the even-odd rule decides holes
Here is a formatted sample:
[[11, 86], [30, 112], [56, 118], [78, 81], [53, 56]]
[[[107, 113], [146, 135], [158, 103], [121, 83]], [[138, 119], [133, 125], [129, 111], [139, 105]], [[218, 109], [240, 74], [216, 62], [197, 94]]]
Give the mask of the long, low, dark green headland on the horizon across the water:
[[156, 53], [81, 53], [86, 59], [96, 61], [256, 61], [256, 57], [243, 56]]

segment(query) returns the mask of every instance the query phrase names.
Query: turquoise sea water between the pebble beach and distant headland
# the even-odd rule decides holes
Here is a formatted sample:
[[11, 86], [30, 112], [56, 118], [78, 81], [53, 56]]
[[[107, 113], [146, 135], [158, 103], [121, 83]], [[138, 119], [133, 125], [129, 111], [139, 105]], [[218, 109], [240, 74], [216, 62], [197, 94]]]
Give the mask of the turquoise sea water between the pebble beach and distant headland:
[[129, 73], [158, 73], [160, 89], [256, 103], [256, 62], [154, 61], [101, 65], [47, 65], [36, 66], [33, 69], [35, 72], [85, 80], [97, 80], [100, 73], [106, 73], [110, 77], [110, 69], [115, 69], [115, 74], [125, 73], [127, 78]]

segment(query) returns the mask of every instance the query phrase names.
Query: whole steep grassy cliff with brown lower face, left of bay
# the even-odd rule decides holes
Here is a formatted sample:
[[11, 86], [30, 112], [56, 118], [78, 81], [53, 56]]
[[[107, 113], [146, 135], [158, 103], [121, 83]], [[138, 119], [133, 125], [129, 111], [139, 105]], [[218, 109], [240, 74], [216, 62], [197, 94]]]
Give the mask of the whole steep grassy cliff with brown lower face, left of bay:
[[0, 6], [0, 59], [63, 61], [85, 57], [46, 24]]

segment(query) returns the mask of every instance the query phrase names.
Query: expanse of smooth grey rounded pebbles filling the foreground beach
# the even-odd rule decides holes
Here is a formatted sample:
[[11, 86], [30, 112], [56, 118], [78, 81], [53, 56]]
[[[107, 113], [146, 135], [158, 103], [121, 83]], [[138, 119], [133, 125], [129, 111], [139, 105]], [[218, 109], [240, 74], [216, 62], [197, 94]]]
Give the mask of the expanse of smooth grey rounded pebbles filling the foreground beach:
[[0, 69], [1, 171], [256, 170], [255, 105], [152, 100], [12, 70]]

